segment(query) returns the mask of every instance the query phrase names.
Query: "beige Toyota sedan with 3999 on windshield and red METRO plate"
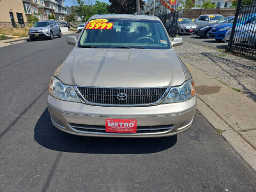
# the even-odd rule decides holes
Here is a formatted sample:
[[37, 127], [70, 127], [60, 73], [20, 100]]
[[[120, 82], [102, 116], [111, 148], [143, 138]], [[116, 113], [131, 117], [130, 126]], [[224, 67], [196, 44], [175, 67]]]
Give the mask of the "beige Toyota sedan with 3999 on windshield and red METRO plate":
[[[185, 131], [196, 112], [195, 84], [167, 34], [148, 15], [94, 15], [50, 80], [54, 126], [97, 137], [164, 137]], [[121, 30], [116, 30], [120, 27]]]

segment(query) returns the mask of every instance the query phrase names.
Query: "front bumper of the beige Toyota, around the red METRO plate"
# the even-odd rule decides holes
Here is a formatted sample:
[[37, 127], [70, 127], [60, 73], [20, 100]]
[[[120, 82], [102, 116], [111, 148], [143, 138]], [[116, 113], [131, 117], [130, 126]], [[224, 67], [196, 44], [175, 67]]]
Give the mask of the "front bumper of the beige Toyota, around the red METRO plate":
[[[196, 96], [185, 102], [150, 107], [101, 107], [48, 96], [52, 124], [67, 133], [94, 137], [166, 137], [188, 129]], [[137, 119], [137, 133], [107, 133], [105, 119]], [[146, 128], [145, 128], [146, 127]], [[147, 131], [143, 131], [143, 130]]]

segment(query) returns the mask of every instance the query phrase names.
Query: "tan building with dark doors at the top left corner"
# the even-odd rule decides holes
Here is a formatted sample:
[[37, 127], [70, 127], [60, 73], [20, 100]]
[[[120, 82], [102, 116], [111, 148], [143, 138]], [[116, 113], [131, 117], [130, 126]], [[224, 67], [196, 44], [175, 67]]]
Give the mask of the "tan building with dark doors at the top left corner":
[[25, 27], [27, 18], [22, 0], [0, 0], [0, 28]]

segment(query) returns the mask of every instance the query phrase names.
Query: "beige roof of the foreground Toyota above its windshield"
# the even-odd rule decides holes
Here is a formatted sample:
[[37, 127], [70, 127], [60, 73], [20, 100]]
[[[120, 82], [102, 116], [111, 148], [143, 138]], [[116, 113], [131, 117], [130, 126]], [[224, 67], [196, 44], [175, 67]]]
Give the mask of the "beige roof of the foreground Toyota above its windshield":
[[90, 19], [145, 19], [145, 20], [155, 20], [160, 21], [156, 16], [151, 15], [135, 15], [135, 14], [103, 14], [103, 15], [93, 15]]

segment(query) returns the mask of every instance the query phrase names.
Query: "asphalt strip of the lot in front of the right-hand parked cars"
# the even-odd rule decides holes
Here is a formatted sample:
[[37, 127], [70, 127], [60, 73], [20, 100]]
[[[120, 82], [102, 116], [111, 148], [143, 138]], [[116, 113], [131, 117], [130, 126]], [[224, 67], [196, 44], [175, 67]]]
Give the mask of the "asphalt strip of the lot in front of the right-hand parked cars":
[[223, 42], [217, 42], [215, 39], [212, 38], [203, 38], [196, 35], [180, 35], [180, 37], [183, 38], [183, 41], [188, 43], [193, 43], [196, 45], [201, 45], [205, 47], [210, 47], [215, 50], [222, 50], [225, 51], [228, 43]]

